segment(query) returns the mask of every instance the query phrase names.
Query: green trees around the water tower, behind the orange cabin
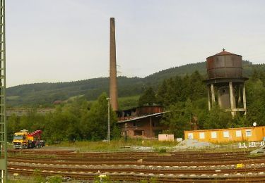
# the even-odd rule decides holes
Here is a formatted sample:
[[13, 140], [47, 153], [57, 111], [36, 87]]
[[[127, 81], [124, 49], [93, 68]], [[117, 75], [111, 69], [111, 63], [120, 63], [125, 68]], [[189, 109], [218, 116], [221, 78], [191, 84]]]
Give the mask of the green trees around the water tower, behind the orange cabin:
[[198, 71], [184, 77], [170, 77], [157, 87], [147, 87], [139, 98], [139, 106], [157, 103], [165, 106], [169, 113], [163, 123], [169, 126], [167, 132], [183, 137], [184, 130], [191, 130], [191, 122], [196, 115], [199, 129], [229, 127], [249, 127], [253, 122], [265, 125], [265, 71], [254, 70], [246, 82], [247, 115], [231, 113], [216, 104], [208, 111], [208, 96], [204, 80]]

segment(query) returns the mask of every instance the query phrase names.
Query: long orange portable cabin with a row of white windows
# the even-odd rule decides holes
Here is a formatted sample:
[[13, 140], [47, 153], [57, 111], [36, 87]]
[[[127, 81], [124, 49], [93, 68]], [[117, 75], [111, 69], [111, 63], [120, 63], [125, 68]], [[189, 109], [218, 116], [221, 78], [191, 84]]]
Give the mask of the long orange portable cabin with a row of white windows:
[[185, 139], [208, 142], [262, 141], [265, 127], [240, 127], [214, 130], [184, 131]]

